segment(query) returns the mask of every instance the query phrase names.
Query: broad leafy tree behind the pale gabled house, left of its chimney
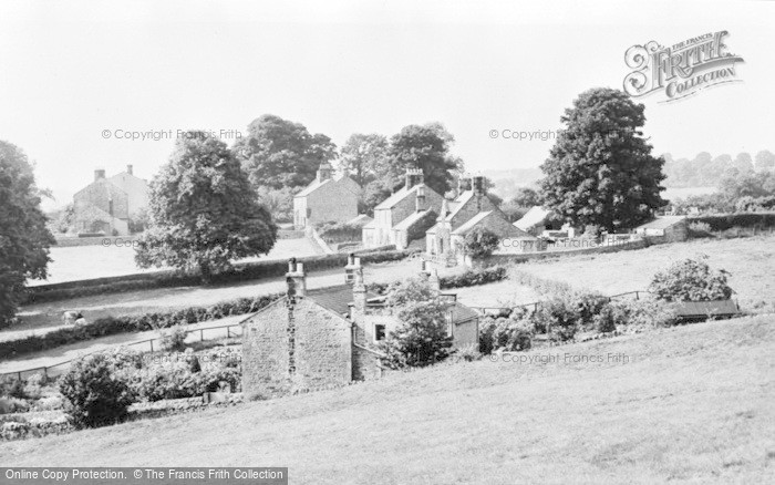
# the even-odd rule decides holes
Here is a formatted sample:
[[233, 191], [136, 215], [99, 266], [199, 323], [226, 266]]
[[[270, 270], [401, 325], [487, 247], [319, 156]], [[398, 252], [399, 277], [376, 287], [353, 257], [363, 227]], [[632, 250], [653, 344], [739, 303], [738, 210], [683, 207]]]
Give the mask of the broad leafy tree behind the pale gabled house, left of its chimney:
[[337, 146], [301, 123], [265, 114], [248, 125], [235, 152], [254, 187], [283, 188], [312, 182], [320, 164], [337, 156]]

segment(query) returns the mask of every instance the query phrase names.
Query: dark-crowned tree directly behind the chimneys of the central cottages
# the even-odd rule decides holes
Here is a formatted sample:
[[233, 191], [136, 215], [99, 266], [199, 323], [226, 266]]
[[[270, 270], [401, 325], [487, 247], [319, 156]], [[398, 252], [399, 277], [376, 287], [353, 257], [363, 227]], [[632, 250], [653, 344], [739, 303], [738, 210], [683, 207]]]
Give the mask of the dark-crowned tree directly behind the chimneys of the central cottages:
[[421, 168], [425, 185], [445, 194], [452, 187], [453, 173], [461, 169], [462, 161], [450, 155], [454, 137], [440, 123], [404, 126], [391, 138], [391, 172], [386, 183], [401, 185], [407, 166]]

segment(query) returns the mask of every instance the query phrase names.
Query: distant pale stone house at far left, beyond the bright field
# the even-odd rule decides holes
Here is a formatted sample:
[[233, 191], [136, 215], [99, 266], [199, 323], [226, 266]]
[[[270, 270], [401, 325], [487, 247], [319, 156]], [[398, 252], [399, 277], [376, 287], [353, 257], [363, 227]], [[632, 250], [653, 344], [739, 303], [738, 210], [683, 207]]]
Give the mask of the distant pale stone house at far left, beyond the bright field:
[[75, 230], [126, 236], [130, 218], [148, 207], [148, 183], [134, 175], [132, 165], [110, 178], [99, 168], [94, 182], [73, 196]]

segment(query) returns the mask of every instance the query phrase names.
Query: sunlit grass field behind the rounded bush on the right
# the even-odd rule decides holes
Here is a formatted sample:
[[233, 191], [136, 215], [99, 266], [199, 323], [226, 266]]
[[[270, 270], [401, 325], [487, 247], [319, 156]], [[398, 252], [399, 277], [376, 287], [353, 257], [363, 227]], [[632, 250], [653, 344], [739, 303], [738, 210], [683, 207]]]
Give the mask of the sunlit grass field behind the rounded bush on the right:
[[604, 295], [644, 290], [653, 275], [671, 262], [707, 255], [712, 268], [725, 269], [730, 286], [746, 311], [775, 312], [775, 237], [756, 236], [736, 239], [696, 239], [688, 242], [651, 246], [637, 251], [518, 265], [545, 279], [565, 281], [576, 288]]

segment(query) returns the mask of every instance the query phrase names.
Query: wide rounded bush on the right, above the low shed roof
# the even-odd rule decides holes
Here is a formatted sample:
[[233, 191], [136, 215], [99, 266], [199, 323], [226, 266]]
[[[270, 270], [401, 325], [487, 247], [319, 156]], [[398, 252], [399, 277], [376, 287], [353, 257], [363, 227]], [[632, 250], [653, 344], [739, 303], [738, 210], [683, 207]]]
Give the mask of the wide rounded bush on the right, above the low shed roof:
[[726, 283], [727, 272], [713, 271], [701, 259], [684, 259], [659, 271], [651, 281], [649, 291], [665, 301], [726, 300], [732, 288]]

